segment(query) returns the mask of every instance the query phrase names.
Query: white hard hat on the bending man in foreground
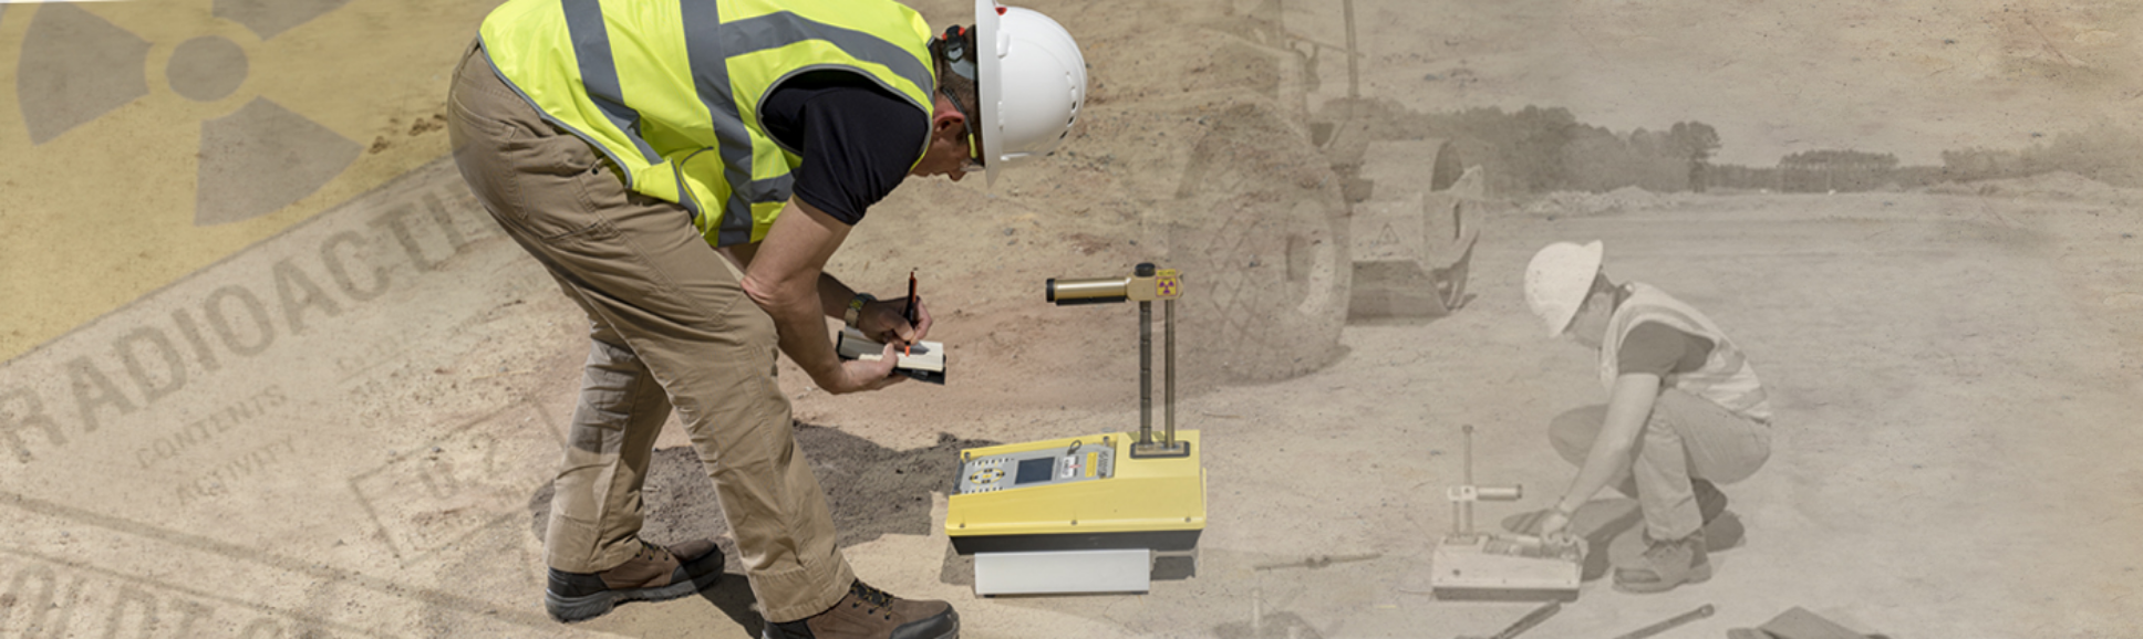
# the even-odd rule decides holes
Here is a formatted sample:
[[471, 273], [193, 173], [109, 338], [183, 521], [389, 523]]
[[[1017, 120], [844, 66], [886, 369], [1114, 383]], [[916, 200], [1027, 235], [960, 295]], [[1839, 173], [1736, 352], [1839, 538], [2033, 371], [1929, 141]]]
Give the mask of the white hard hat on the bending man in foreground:
[[1056, 150], [1087, 105], [1087, 58], [1048, 15], [975, 0], [975, 90], [986, 182]]

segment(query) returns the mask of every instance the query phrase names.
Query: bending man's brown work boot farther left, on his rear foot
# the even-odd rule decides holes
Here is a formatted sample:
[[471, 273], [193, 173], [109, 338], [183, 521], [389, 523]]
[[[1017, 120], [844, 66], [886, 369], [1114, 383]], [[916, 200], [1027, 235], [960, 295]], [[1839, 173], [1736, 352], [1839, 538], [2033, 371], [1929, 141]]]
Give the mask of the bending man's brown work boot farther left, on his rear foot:
[[542, 605], [559, 622], [579, 622], [626, 601], [679, 598], [720, 577], [722, 549], [714, 541], [694, 539], [671, 547], [641, 541], [636, 556], [602, 573], [551, 568], [551, 588], [544, 590]]

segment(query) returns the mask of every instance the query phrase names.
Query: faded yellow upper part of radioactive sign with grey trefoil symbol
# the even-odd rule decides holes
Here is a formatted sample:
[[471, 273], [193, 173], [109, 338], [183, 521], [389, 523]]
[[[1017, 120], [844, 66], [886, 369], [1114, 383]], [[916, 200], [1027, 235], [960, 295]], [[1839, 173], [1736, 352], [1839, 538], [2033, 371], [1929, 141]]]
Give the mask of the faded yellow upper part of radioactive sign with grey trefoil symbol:
[[489, 2], [0, 13], [0, 361], [448, 152]]

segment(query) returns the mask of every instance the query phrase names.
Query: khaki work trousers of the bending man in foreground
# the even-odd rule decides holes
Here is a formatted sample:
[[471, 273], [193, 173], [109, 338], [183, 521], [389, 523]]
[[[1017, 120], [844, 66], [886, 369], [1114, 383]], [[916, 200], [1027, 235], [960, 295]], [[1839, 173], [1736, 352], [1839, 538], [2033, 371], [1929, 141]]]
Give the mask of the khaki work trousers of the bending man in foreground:
[[454, 71], [448, 133], [478, 201], [591, 325], [553, 483], [549, 566], [598, 573], [639, 551], [641, 483], [675, 406], [765, 618], [834, 607], [855, 575], [774, 378], [774, 318], [744, 295], [735, 265], [690, 212], [626, 190], [609, 158], [546, 124], [482, 47]]

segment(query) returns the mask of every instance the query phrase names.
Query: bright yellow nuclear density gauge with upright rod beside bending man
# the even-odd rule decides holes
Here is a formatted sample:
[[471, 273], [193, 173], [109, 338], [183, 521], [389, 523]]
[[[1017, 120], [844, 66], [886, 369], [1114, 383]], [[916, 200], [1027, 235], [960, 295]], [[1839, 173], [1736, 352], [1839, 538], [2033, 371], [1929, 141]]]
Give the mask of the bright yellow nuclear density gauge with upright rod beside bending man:
[[[1140, 427], [960, 451], [945, 509], [954, 551], [975, 556], [975, 594], [1147, 592], [1155, 556], [1196, 573], [1204, 466], [1196, 430], [1174, 430], [1174, 269], [1132, 278], [1050, 280], [1059, 306], [1138, 301]], [[1166, 430], [1153, 432], [1151, 303], [1168, 327]]]

